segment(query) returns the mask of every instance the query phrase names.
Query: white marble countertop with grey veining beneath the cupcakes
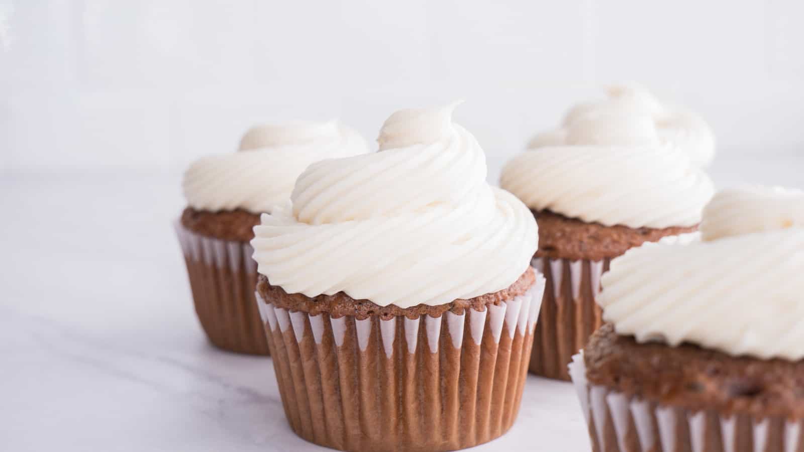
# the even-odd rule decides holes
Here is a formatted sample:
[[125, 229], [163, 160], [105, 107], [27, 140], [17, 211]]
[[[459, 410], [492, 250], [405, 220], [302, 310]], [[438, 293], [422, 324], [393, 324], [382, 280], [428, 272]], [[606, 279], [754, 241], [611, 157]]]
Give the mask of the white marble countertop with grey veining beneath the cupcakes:
[[[716, 182], [804, 185], [802, 160]], [[171, 221], [178, 175], [0, 176], [0, 449], [314, 451], [271, 360], [211, 347]], [[511, 431], [474, 450], [589, 450], [570, 384], [527, 380]]]

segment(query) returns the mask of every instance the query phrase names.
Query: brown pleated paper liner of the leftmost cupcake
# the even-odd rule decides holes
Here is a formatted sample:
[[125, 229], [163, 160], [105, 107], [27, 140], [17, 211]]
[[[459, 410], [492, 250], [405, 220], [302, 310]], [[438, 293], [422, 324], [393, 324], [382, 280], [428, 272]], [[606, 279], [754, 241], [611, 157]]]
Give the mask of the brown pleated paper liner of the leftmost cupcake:
[[216, 347], [268, 355], [254, 300], [256, 262], [250, 244], [201, 236], [175, 224], [201, 327]]

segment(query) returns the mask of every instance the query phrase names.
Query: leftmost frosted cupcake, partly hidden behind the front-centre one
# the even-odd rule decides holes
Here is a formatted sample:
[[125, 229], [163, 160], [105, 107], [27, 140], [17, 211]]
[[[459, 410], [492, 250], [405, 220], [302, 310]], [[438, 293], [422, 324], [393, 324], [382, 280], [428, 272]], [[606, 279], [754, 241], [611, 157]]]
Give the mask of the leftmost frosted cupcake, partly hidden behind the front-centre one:
[[256, 310], [248, 244], [260, 213], [286, 203], [293, 182], [322, 158], [363, 154], [359, 134], [335, 121], [254, 127], [240, 152], [201, 158], [184, 174], [187, 208], [176, 224], [201, 327], [229, 351], [268, 355]]

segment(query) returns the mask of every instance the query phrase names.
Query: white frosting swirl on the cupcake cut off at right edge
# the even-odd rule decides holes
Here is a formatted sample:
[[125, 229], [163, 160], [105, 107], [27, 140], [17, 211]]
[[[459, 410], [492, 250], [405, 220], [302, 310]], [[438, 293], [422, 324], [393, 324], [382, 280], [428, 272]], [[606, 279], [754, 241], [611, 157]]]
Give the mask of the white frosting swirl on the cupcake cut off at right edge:
[[612, 261], [597, 298], [603, 318], [640, 342], [801, 360], [802, 206], [802, 191], [720, 192], [705, 211], [707, 241], [646, 244]]

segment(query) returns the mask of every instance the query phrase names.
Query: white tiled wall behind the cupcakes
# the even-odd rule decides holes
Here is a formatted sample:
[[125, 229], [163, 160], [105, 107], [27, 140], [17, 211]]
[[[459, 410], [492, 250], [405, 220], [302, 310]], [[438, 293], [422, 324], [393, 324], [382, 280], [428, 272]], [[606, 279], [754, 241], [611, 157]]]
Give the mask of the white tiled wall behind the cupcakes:
[[804, 153], [804, 2], [0, 0], [0, 167], [180, 171], [257, 121], [465, 97], [496, 181], [601, 84], [702, 113], [721, 159]]

